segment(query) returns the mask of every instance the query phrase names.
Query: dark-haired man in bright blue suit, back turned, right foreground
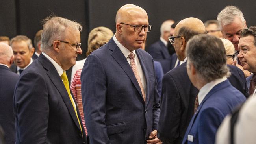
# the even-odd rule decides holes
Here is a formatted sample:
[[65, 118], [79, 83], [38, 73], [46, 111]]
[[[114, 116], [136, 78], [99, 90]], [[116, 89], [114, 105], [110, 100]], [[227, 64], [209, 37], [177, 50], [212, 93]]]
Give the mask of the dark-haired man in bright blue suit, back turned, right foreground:
[[187, 43], [186, 55], [187, 74], [199, 90], [199, 106], [182, 144], [214, 144], [224, 117], [246, 98], [227, 79], [230, 72], [226, 50], [219, 38], [206, 34], [194, 36]]

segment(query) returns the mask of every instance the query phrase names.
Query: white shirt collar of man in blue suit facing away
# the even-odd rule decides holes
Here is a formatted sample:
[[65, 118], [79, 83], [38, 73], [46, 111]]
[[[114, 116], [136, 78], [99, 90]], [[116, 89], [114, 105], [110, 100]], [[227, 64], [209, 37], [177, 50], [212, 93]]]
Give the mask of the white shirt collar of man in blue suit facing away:
[[224, 76], [223, 78], [220, 78], [220, 79], [215, 79], [214, 81], [211, 81], [210, 83], [206, 83], [206, 85], [204, 85], [200, 90], [199, 90], [199, 93], [198, 93], [198, 103], [200, 105], [200, 103], [204, 100], [205, 96], [211, 91], [211, 89], [223, 82], [227, 80], [227, 77]]

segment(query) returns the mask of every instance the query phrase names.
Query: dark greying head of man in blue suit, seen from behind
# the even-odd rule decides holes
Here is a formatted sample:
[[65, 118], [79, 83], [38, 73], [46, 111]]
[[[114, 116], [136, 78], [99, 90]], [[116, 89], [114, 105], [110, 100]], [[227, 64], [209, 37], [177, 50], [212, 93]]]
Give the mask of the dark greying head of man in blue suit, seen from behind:
[[226, 50], [221, 39], [207, 34], [195, 35], [186, 47], [187, 65], [192, 63], [197, 76], [210, 82], [230, 76], [226, 66]]

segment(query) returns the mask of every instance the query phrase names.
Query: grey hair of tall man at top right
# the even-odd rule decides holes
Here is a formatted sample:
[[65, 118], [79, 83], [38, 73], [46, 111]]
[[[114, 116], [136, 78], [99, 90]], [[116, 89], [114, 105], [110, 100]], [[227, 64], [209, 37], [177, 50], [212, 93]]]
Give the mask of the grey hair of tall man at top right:
[[226, 6], [217, 16], [221, 29], [222, 26], [231, 24], [235, 17], [240, 18], [241, 22], [245, 25], [245, 18], [242, 11], [236, 6]]

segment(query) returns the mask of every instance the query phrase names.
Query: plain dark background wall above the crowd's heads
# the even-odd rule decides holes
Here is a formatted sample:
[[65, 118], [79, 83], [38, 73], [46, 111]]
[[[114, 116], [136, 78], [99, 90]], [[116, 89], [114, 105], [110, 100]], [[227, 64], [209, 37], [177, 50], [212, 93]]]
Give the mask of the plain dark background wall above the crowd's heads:
[[83, 25], [83, 54], [78, 57], [83, 59], [89, 31], [106, 26], [115, 32], [115, 14], [128, 3], [143, 7], [148, 13], [149, 23], [154, 26], [148, 34], [147, 46], [159, 39], [163, 21], [196, 17], [204, 22], [216, 19], [228, 5], [241, 9], [247, 26], [256, 25], [255, 0], [0, 0], [0, 35], [27, 35], [33, 41], [35, 33], [42, 28], [41, 20], [54, 13]]

